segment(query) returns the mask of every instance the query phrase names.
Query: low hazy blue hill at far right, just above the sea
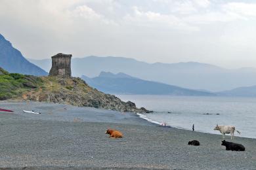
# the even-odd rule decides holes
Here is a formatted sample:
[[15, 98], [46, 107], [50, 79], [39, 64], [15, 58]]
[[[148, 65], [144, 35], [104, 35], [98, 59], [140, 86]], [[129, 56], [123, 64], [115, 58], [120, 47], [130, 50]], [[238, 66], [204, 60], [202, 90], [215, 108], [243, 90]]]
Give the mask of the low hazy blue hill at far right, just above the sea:
[[256, 97], [256, 86], [235, 88], [233, 90], [226, 90], [216, 94], [224, 96]]

